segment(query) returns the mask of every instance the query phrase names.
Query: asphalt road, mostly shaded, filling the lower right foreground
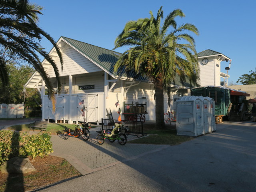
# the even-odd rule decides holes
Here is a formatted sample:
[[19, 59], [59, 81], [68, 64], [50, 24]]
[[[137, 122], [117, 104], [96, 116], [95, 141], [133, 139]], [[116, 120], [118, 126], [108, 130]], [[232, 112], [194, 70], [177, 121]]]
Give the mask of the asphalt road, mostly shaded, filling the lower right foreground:
[[256, 124], [217, 131], [40, 192], [256, 192]]

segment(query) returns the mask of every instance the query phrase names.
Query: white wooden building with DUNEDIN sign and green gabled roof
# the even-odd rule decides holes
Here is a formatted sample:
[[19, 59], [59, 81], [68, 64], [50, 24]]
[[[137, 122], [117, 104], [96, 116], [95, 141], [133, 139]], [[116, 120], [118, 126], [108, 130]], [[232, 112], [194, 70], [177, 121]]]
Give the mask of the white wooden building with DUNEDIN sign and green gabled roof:
[[[114, 72], [114, 65], [120, 53], [98, 46], [80, 42], [66, 37], [60, 37], [57, 42], [64, 60], [63, 72], [60, 72], [62, 92], [56, 94], [56, 110], [45, 95], [45, 84], [40, 75], [35, 72], [26, 83], [26, 88], [37, 88], [42, 97], [42, 120], [55, 122], [82, 122], [81, 109], [85, 108], [85, 117], [88, 122], [100, 123], [106, 117], [106, 109], [111, 109], [113, 118], [117, 119], [117, 110], [124, 109], [123, 102], [147, 103], [146, 120], [155, 120], [154, 85], [146, 77], [126, 72], [120, 68]], [[56, 64], [60, 61], [56, 50], [49, 52]], [[56, 78], [52, 66], [46, 61], [42, 65], [57, 88]], [[189, 84], [182, 88], [179, 78], [176, 85], [171, 87], [171, 105], [168, 106], [168, 96], [165, 93], [165, 112], [174, 110], [174, 101], [179, 96], [188, 93]], [[120, 106], [115, 105], [119, 101]], [[81, 104], [80, 102], [84, 102]], [[124, 116], [122, 114], [122, 119]]]

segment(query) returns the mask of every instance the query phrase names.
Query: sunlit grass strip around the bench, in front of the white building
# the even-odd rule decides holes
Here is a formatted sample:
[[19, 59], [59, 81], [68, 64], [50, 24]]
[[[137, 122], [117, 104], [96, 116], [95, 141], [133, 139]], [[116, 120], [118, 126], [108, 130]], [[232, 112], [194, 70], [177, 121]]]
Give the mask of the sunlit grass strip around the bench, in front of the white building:
[[[76, 124], [64, 124], [64, 123], [48, 123], [46, 132], [50, 134], [58, 134], [62, 133], [62, 131], [65, 129], [65, 127], [69, 128], [71, 131], [74, 131]], [[91, 128], [94, 128], [96, 126], [91, 126]], [[8, 127], [9, 130], [17, 130], [17, 131], [36, 131], [40, 132], [40, 130], [36, 129], [30, 129], [28, 128], [28, 124], [22, 124], [22, 125], [14, 125]], [[45, 131], [44, 131], [45, 133]]]

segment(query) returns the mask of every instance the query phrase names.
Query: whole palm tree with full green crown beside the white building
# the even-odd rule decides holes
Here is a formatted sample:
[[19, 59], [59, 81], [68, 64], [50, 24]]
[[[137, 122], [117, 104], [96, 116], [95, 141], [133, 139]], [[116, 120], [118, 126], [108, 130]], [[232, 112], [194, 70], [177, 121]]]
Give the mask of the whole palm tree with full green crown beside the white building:
[[[156, 127], [164, 128], [164, 86], [179, 76], [182, 84], [189, 79], [190, 86], [198, 81], [198, 63], [195, 41], [184, 31], [199, 34], [190, 23], [177, 26], [176, 16], [184, 17], [180, 9], [172, 11], [164, 20], [162, 7], [156, 18], [150, 11], [150, 18], [129, 21], [118, 35], [115, 47], [129, 46], [116, 62], [114, 70], [126, 66], [127, 70], [148, 76], [154, 82], [156, 98]], [[182, 43], [180, 43], [182, 42]], [[186, 44], [184, 44], [186, 42]]]

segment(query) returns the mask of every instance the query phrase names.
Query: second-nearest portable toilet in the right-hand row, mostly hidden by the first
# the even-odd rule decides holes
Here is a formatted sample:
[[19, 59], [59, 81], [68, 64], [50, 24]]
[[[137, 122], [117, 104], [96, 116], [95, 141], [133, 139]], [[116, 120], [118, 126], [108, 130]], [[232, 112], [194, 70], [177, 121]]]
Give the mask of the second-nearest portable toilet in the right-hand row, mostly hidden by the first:
[[210, 133], [210, 115], [209, 115], [209, 108], [210, 103], [208, 99], [206, 99], [203, 96], [199, 96], [199, 98], [202, 100], [202, 112], [203, 112], [203, 127], [204, 127], [204, 134]]

